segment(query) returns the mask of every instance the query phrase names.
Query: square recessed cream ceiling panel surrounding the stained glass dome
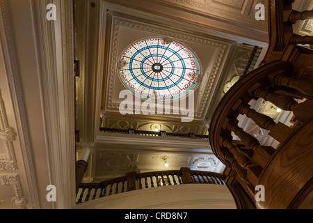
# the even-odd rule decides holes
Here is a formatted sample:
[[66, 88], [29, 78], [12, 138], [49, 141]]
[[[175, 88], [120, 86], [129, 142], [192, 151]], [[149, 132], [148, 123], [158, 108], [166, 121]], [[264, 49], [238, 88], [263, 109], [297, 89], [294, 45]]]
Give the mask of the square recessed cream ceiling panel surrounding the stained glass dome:
[[[113, 13], [112, 34], [110, 46], [109, 70], [107, 76], [106, 87], [106, 112], [118, 112], [119, 105], [123, 98], [119, 98], [120, 91], [125, 89], [125, 86], [120, 81], [119, 63], [120, 55], [125, 48], [134, 43], [136, 40], [143, 38], [158, 38], [166, 37], [172, 40], [179, 41], [187, 45], [198, 55], [202, 65], [202, 81], [200, 86], [195, 89], [195, 119], [203, 120], [206, 110], [213, 96], [214, 88], [222, 74], [223, 66], [230, 52], [232, 41], [230, 40], [215, 40], [213, 38], [204, 38], [195, 34], [175, 29], [168, 29], [164, 24], [152, 25], [149, 23], [138, 22], [120, 17]], [[135, 113], [135, 107], [133, 107]], [[143, 112], [143, 111], [142, 111]], [[147, 111], [145, 111], [147, 112]], [[163, 114], [163, 116], [166, 116]], [[170, 118], [181, 118], [181, 114], [170, 114]]]

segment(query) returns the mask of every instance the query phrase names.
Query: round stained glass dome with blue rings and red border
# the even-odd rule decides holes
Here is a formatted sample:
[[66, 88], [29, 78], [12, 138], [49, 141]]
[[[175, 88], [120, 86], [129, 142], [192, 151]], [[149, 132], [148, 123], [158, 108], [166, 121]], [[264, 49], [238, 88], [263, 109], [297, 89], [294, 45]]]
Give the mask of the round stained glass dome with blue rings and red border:
[[122, 82], [143, 98], [177, 98], [198, 82], [198, 59], [184, 45], [161, 38], [139, 40], [120, 59]]

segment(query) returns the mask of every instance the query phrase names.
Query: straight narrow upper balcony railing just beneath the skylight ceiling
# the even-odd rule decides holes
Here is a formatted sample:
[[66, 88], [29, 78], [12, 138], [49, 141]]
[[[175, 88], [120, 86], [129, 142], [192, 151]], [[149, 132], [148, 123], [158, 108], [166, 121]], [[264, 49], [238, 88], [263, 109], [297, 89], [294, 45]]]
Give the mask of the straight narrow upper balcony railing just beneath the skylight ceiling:
[[148, 137], [172, 137], [172, 138], [188, 138], [188, 139], [205, 139], [209, 140], [209, 136], [205, 134], [193, 134], [193, 133], [173, 133], [166, 131], [145, 131], [145, 130], [134, 130], [129, 129], [118, 129], [118, 128], [100, 128], [100, 132], [111, 132], [118, 134], [136, 134]]

